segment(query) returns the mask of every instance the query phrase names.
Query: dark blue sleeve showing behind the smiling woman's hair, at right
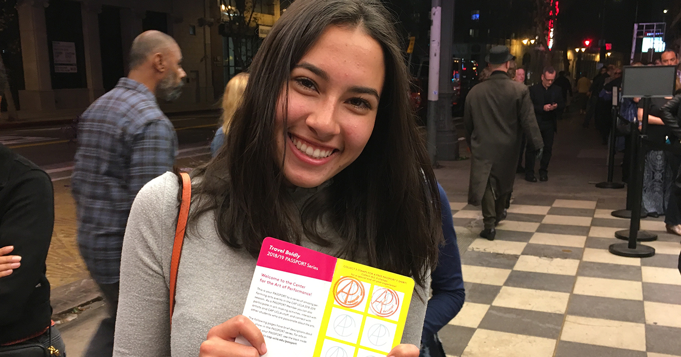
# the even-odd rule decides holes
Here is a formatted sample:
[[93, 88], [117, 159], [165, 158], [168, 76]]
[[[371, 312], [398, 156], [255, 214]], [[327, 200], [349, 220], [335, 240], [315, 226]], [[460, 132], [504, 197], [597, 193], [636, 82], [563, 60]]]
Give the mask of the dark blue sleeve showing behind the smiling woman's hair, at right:
[[464, 305], [464, 280], [461, 274], [461, 258], [456, 244], [456, 232], [452, 209], [445, 190], [440, 189], [442, 232], [445, 243], [440, 247], [437, 268], [432, 273], [432, 298], [428, 300], [422, 341], [426, 341], [459, 313]]

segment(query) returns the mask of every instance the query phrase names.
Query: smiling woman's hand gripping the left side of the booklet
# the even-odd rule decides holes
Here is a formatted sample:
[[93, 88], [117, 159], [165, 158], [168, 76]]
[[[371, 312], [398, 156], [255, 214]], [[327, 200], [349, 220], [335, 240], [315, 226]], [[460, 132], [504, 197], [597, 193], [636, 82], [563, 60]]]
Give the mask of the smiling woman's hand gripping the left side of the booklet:
[[[244, 337], [255, 347], [234, 342], [238, 336]], [[262, 332], [248, 317], [238, 315], [208, 331], [206, 341], [201, 344], [199, 357], [257, 357], [266, 353], [267, 347]], [[412, 355], [398, 354], [396, 356], [411, 357]]]

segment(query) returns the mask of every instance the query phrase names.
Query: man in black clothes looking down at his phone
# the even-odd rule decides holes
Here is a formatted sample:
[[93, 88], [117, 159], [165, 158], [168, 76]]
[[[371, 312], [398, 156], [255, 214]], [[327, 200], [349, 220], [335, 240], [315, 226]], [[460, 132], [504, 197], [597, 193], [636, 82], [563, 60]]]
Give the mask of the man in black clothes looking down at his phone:
[[[554, 85], [556, 69], [545, 67], [541, 73], [541, 83], [530, 87], [530, 98], [535, 107], [535, 117], [544, 142], [544, 152], [539, 164], [539, 180], [548, 181], [548, 167], [551, 160], [553, 139], [557, 128], [558, 113], [563, 112], [565, 100], [563, 90]], [[528, 150], [525, 155], [525, 180], [537, 182], [535, 177], [535, 155], [537, 151]]]

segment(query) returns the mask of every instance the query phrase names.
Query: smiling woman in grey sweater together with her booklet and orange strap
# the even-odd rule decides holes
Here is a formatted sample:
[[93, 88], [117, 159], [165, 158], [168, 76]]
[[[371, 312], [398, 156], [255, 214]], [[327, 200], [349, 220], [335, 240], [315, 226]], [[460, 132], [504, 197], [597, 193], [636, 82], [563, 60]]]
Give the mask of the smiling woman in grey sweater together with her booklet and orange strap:
[[217, 155], [133, 203], [114, 356], [419, 355], [441, 198], [394, 23], [380, 0], [276, 21]]

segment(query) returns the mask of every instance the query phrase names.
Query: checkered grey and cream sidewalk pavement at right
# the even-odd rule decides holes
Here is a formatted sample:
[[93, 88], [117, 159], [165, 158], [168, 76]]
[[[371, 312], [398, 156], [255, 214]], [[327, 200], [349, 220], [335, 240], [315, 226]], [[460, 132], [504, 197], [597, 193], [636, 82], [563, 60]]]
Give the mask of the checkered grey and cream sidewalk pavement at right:
[[681, 237], [665, 232], [663, 217], [648, 218], [642, 229], [659, 239], [644, 244], [656, 255], [607, 251], [623, 242], [614, 232], [629, 228], [609, 214], [624, 208], [626, 192], [594, 187], [605, 181], [607, 148], [581, 123], [560, 121], [547, 183], [518, 175], [492, 242], [478, 238], [481, 212], [466, 204], [470, 161], [437, 170], [464, 251], [466, 287], [462, 311], [439, 334], [447, 355], [681, 355]]

